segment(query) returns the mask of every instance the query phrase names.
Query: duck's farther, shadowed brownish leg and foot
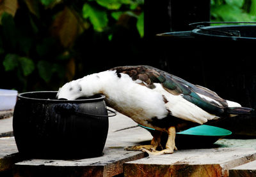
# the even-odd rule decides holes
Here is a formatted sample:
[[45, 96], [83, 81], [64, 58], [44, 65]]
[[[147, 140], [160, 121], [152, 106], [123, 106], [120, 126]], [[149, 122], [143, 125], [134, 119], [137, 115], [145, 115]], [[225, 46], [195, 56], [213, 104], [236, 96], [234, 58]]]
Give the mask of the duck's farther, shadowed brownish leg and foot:
[[163, 147], [161, 146], [161, 131], [155, 131], [154, 132], [154, 137], [151, 141], [151, 145], [138, 145], [138, 146], [131, 146], [131, 147], [126, 147], [125, 150], [141, 150], [145, 149], [148, 151], [156, 151], [157, 147], [160, 147], [163, 150]]

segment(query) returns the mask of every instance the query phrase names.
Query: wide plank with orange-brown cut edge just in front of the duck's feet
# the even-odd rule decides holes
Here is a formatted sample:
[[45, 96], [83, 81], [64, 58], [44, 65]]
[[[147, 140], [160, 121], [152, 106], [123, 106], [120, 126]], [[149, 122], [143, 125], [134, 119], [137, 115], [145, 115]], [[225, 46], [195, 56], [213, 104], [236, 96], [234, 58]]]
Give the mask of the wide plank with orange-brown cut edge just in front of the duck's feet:
[[124, 176], [228, 176], [228, 169], [256, 159], [253, 148], [179, 150], [124, 164]]

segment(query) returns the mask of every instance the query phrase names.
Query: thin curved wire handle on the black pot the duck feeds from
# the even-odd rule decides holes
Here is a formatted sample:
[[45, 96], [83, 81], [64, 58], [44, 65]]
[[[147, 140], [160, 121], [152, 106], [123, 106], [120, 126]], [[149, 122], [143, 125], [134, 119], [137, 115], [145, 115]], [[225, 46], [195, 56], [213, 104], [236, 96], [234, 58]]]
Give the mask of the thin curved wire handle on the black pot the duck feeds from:
[[85, 116], [89, 116], [89, 117], [114, 117], [114, 116], [116, 116], [115, 111], [109, 110], [108, 108], [107, 108], [107, 110], [109, 112], [113, 113], [113, 115], [93, 115], [93, 114], [90, 114], [90, 113], [82, 113], [82, 112], [77, 111], [78, 110], [77, 105], [70, 104], [70, 103], [55, 105], [54, 110], [55, 110], [56, 113], [60, 113], [60, 114], [76, 113], [77, 115], [85, 115]]

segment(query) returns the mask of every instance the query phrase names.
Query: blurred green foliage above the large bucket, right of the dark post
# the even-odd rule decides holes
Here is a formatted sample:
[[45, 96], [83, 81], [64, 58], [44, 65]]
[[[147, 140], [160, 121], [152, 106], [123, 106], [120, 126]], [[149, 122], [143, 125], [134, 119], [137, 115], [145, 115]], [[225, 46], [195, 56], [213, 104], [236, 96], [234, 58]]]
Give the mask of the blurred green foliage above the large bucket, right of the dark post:
[[211, 0], [211, 20], [215, 22], [255, 22], [255, 0]]

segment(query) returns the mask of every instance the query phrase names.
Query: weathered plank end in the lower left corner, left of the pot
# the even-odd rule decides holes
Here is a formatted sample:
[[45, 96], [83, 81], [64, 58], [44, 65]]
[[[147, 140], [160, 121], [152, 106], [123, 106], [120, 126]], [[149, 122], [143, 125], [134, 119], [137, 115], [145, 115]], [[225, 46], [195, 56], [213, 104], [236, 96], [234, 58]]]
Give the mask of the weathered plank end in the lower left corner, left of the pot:
[[19, 160], [17, 146], [13, 137], [0, 138], [0, 172], [12, 168]]

